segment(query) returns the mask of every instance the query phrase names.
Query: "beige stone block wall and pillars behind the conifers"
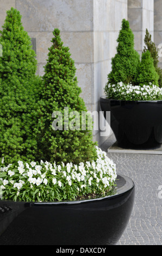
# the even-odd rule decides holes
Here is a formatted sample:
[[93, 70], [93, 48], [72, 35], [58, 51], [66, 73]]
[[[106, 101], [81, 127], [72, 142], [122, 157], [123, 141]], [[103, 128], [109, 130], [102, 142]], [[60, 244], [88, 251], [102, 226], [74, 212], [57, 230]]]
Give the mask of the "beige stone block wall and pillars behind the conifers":
[[[0, 0], [0, 5], [0, 26], [6, 10], [20, 10], [24, 29], [36, 40], [39, 75], [43, 75], [52, 32], [60, 29], [76, 64], [81, 96], [91, 112], [99, 111], [122, 19], [129, 20], [138, 52], [143, 50], [146, 28], [156, 45], [162, 43], [161, 0]], [[94, 131], [94, 139], [101, 144], [107, 137], [99, 134]]]

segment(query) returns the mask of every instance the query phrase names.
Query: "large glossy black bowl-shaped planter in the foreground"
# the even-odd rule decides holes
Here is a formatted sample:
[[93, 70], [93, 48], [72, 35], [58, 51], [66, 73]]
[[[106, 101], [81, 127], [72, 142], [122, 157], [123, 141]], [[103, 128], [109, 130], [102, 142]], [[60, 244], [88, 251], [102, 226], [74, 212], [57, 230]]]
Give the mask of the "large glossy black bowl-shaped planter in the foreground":
[[134, 182], [117, 176], [113, 196], [76, 202], [0, 200], [0, 245], [115, 245], [132, 212]]

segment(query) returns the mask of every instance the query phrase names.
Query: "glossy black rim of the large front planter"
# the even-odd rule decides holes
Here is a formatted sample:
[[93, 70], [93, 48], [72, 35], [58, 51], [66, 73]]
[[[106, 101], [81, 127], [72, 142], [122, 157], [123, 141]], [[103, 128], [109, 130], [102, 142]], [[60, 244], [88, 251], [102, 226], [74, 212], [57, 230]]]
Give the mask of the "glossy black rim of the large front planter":
[[[118, 180], [122, 179], [124, 182], [121, 182], [121, 186], [120, 183], [118, 182]], [[118, 185], [119, 184], [119, 187]], [[67, 204], [67, 205], [72, 205], [72, 204], [83, 204], [83, 203], [88, 203], [88, 202], [96, 202], [99, 200], [104, 200], [104, 199], [111, 199], [114, 197], [119, 197], [121, 194], [126, 193], [129, 190], [132, 190], [135, 186], [134, 181], [132, 179], [130, 179], [128, 176], [126, 175], [121, 175], [121, 174], [117, 174], [117, 178], [116, 178], [116, 192], [115, 194], [112, 194], [110, 196], [104, 196], [104, 197], [98, 197], [98, 198], [92, 198], [92, 199], [83, 199], [83, 200], [73, 200], [73, 201], [61, 201], [61, 202], [26, 202], [26, 201], [13, 201], [13, 200], [3, 200], [0, 199], [0, 203], [18, 203], [18, 204], [26, 204], [26, 206], [45, 206], [45, 205], [58, 205], [58, 204]]]

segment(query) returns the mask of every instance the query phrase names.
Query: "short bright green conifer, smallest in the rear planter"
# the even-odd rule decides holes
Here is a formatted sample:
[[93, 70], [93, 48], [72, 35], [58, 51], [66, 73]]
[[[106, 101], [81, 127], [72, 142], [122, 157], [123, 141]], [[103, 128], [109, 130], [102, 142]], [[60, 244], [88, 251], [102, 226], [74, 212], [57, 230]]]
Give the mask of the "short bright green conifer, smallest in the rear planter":
[[148, 50], [142, 53], [141, 62], [137, 70], [136, 85], [142, 87], [144, 84], [147, 86], [151, 82], [155, 86], [158, 86], [159, 75], [154, 68], [153, 58]]

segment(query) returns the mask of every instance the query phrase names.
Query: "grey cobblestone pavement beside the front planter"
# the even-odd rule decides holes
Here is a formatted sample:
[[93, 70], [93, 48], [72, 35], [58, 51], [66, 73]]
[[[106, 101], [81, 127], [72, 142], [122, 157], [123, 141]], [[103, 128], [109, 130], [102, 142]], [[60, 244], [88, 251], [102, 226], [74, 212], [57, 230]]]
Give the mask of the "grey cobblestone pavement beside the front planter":
[[[101, 148], [107, 152], [115, 141], [112, 135]], [[162, 155], [107, 154], [116, 163], [117, 174], [135, 183], [132, 215], [117, 245], [162, 245]]]

